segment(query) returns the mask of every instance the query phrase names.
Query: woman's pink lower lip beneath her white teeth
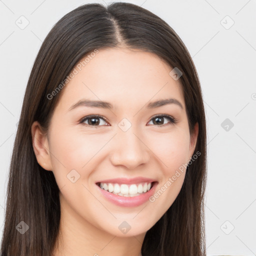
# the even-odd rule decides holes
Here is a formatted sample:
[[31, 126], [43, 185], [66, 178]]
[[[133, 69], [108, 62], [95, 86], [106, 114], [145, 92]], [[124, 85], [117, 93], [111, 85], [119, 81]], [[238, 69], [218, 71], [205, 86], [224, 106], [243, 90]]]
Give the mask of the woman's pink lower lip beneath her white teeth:
[[100, 190], [102, 195], [108, 199], [110, 202], [123, 207], [135, 207], [141, 205], [142, 203], [146, 202], [148, 198], [154, 193], [155, 187], [157, 182], [153, 182], [153, 186], [145, 193], [142, 193], [137, 196], [126, 197], [117, 194], [110, 193], [102, 188], [100, 188], [97, 184], [97, 188]]

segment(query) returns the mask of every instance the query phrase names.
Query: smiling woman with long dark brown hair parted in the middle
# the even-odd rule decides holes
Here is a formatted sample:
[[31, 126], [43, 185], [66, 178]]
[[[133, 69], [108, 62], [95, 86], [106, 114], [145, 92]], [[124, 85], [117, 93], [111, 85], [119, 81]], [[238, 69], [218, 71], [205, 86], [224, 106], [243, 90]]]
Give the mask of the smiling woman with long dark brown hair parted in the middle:
[[131, 3], [79, 6], [31, 70], [1, 255], [205, 255], [205, 141], [173, 29]]

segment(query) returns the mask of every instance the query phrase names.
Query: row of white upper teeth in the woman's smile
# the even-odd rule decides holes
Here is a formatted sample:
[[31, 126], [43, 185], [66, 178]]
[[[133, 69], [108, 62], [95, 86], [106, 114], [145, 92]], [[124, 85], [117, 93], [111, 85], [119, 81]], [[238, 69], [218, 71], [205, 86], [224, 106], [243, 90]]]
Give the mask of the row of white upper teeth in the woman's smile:
[[119, 194], [122, 196], [139, 195], [139, 193], [145, 193], [151, 188], [151, 182], [143, 182], [138, 184], [117, 184], [117, 183], [102, 183], [99, 186], [108, 190], [110, 193]]

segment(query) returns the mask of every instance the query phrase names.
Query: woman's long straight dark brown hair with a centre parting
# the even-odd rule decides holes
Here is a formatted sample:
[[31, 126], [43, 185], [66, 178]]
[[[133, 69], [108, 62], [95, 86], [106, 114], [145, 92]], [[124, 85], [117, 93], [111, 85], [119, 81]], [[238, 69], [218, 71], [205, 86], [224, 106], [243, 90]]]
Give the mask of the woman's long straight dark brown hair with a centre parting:
[[[59, 188], [52, 171], [38, 163], [31, 125], [47, 130], [61, 91], [48, 99], [74, 65], [94, 49], [125, 46], [153, 52], [181, 72], [189, 131], [199, 132], [195, 152], [181, 190], [164, 215], [146, 232], [143, 256], [205, 255], [204, 190], [206, 127], [200, 83], [187, 48], [161, 18], [135, 4], [114, 2], [79, 6], [64, 15], [44, 39], [34, 61], [23, 99], [9, 169], [1, 256], [49, 256], [60, 220]], [[21, 234], [17, 225], [28, 230]]]

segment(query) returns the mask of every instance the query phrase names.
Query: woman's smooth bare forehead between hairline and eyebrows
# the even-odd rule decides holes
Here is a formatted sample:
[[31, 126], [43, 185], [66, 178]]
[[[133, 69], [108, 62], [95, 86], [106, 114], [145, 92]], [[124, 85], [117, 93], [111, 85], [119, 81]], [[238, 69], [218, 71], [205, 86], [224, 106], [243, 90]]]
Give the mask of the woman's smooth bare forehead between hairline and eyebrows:
[[136, 108], [169, 97], [184, 106], [181, 85], [169, 75], [172, 67], [151, 52], [105, 48], [84, 59], [74, 66], [76, 74], [63, 88], [58, 107], [67, 109], [88, 98], [111, 102], [114, 108], [131, 103]]

